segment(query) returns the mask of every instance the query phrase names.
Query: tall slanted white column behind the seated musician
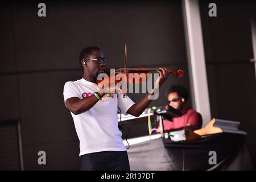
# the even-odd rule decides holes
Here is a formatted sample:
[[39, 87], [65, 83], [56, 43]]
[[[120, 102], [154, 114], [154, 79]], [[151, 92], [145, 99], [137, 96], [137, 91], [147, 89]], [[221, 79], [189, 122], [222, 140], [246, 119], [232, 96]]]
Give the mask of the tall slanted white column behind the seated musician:
[[201, 113], [205, 126], [211, 116], [199, 2], [183, 0], [182, 6], [191, 101], [193, 108]]

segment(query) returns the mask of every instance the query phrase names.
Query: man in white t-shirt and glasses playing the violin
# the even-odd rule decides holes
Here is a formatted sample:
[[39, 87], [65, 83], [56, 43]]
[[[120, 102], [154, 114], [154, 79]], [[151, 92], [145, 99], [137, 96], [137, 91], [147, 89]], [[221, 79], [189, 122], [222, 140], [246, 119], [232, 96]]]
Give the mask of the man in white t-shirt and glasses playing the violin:
[[108, 63], [100, 48], [82, 49], [79, 63], [84, 71], [82, 78], [66, 82], [63, 95], [80, 140], [81, 170], [130, 170], [117, 111], [135, 117], [141, 115], [152, 101], [148, 96], [162, 86], [170, 73], [159, 68], [154, 90], [134, 103], [128, 96], [113, 93], [116, 88], [100, 89], [97, 85], [97, 77], [105, 72]]

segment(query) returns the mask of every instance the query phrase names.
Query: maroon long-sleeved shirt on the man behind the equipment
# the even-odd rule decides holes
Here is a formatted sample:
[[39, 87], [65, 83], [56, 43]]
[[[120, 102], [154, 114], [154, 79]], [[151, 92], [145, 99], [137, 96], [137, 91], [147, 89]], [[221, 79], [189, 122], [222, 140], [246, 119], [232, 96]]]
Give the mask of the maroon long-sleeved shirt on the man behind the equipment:
[[[179, 129], [181, 127], [185, 127], [186, 125], [199, 126], [202, 127], [202, 116], [197, 111], [189, 108], [187, 112], [185, 112], [181, 117], [172, 118], [172, 122], [167, 119], [163, 120], [164, 131], [171, 129]], [[158, 130], [160, 126], [158, 127]]]

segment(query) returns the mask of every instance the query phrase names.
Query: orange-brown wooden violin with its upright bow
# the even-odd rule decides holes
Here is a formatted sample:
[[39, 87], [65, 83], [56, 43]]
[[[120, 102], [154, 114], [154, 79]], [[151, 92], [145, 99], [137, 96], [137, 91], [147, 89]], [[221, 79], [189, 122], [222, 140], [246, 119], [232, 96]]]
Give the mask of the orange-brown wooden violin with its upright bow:
[[[123, 84], [142, 84], [148, 80], [148, 76], [152, 73], [158, 73], [157, 68], [126, 68], [127, 59], [127, 43], [125, 43], [125, 64], [124, 68], [110, 69], [105, 72], [104, 79], [98, 80], [98, 86], [104, 89], [105, 85], [118, 84], [123, 81]], [[183, 77], [184, 71], [179, 69], [177, 72], [168, 69], [169, 73], [175, 77]], [[101, 73], [102, 74], [102, 73]], [[108, 77], [106, 77], [108, 76]]]

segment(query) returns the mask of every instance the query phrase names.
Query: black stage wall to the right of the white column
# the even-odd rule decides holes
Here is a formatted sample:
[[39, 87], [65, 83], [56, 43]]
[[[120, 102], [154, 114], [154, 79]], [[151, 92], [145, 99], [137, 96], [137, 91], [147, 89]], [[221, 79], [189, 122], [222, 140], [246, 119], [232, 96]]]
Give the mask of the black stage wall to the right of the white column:
[[217, 17], [200, 1], [212, 118], [240, 121], [256, 162], [256, 80], [251, 38], [255, 1], [214, 1]]

